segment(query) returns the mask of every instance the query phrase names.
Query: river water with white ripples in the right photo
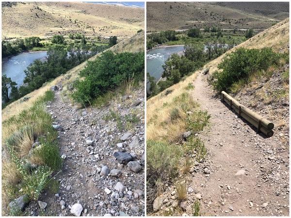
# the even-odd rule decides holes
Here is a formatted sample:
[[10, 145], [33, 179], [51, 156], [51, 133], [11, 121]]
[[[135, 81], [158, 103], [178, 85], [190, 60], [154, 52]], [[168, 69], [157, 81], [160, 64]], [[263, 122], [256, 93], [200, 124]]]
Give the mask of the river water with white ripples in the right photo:
[[184, 50], [184, 46], [161, 47], [146, 52], [146, 72], [158, 81], [162, 77], [162, 64], [174, 53]]

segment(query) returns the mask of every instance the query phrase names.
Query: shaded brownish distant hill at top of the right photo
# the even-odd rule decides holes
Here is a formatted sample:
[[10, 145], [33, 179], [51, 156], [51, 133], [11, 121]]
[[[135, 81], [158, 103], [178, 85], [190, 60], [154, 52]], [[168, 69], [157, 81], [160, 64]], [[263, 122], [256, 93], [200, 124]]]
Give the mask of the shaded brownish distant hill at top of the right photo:
[[147, 2], [147, 31], [267, 29], [289, 17], [289, 2]]

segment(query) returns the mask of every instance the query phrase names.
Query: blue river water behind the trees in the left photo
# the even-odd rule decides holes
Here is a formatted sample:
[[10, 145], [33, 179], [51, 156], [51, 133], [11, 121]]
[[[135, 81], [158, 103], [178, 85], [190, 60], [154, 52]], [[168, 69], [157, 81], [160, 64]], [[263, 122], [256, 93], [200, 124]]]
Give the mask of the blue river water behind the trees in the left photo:
[[46, 51], [40, 52], [23, 52], [10, 58], [2, 59], [2, 75], [10, 77], [12, 81], [20, 87], [25, 78], [24, 70], [36, 59], [45, 59]]

